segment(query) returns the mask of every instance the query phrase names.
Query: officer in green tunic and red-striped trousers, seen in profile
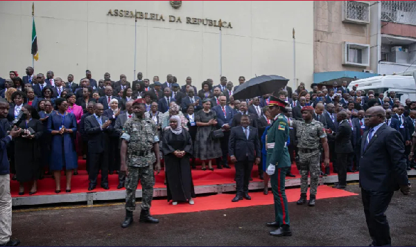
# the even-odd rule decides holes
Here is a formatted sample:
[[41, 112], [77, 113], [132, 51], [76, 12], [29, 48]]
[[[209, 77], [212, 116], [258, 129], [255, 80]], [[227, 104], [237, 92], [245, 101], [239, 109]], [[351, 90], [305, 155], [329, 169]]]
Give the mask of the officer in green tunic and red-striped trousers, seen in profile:
[[270, 117], [275, 119], [266, 136], [266, 164], [269, 164], [266, 173], [270, 176], [275, 199], [275, 221], [267, 223], [267, 226], [277, 227], [277, 230], [270, 232], [270, 235], [277, 237], [291, 236], [288, 199], [284, 189], [286, 173], [289, 172], [291, 167], [291, 157], [287, 147], [289, 126], [286, 117], [283, 115], [286, 112], [286, 102], [275, 96], [270, 96], [268, 107]]

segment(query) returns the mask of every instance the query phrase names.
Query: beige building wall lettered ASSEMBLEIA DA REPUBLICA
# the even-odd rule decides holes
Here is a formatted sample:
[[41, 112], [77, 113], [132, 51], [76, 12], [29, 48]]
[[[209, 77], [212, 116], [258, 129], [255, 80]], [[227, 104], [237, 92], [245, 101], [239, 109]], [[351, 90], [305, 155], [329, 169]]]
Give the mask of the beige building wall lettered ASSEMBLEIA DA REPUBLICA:
[[[24, 68], [31, 60], [31, 5], [28, 1], [0, 2], [0, 76]], [[239, 75], [277, 74], [293, 82], [293, 39], [296, 30], [297, 78], [313, 77], [313, 1], [35, 1], [35, 24], [40, 60], [35, 72], [73, 73], [76, 81], [92, 71], [96, 80], [110, 72], [133, 80], [135, 21], [107, 15], [108, 10], [131, 10], [164, 15], [165, 21], [138, 19], [137, 72], [160, 81], [172, 73], [180, 84], [207, 79], [219, 83], [218, 28], [186, 24], [186, 17], [223, 19], [223, 75], [236, 85]], [[180, 16], [182, 24], [168, 21]], [[6, 36], [5, 36], [6, 34]]]

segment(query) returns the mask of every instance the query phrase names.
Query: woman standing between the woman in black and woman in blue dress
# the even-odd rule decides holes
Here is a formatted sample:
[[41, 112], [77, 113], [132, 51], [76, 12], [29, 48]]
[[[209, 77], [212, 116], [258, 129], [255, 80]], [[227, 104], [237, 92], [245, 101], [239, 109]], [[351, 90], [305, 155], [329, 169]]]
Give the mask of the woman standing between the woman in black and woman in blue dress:
[[40, 120], [42, 121], [42, 125], [44, 125], [44, 132], [41, 137], [40, 141], [40, 147], [42, 152], [42, 173], [40, 174], [41, 178], [44, 176], [44, 172], [49, 169], [49, 172], [47, 175], [52, 175], [51, 170], [49, 168], [49, 161], [51, 158], [51, 133], [49, 131], [46, 131], [48, 128], [48, 119], [49, 116], [54, 113], [53, 111], [53, 105], [51, 100], [42, 100], [42, 109], [39, 111]]

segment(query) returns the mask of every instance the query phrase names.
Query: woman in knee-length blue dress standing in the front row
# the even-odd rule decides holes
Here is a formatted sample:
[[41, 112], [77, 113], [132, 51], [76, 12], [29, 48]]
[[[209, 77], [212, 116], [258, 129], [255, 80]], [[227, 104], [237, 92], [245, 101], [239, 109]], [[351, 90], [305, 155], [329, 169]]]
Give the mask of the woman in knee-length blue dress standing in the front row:
[[67, 175], [66, 192], [71, 192], [72, 170], [78, 168], [78, 159], [75, 149], [76, 117], [67, 112], [68, 102], [64, 98], [55, 100], [58, 111], [51, 113], [48, 118], [48, 132], [52, 135], [51, 141], [51, 170], [55, 176], [55, 193], [60, 193], [61, 170], [65, 167]]

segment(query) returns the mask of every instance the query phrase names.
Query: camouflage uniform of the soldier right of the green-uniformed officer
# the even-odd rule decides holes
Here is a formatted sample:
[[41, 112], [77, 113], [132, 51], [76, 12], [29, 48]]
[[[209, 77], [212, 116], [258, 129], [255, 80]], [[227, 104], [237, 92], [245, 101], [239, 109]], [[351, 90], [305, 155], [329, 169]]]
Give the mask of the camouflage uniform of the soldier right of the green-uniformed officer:
[[298, 204], [303, 204], [308, 191], [308, 174], [311, 174], [311, 199], [315, 199], [320, 175], [320, 138], [326, 138], [327, 134], [324, 132], [324, 125], [315, 120], [309, 123], [292, 120], [291, 125], [297, 128], [297, 147], [299, 149], [297, 169], [301, 175], [300, 201], [303, 199], [302, 203], [298, 201]]

